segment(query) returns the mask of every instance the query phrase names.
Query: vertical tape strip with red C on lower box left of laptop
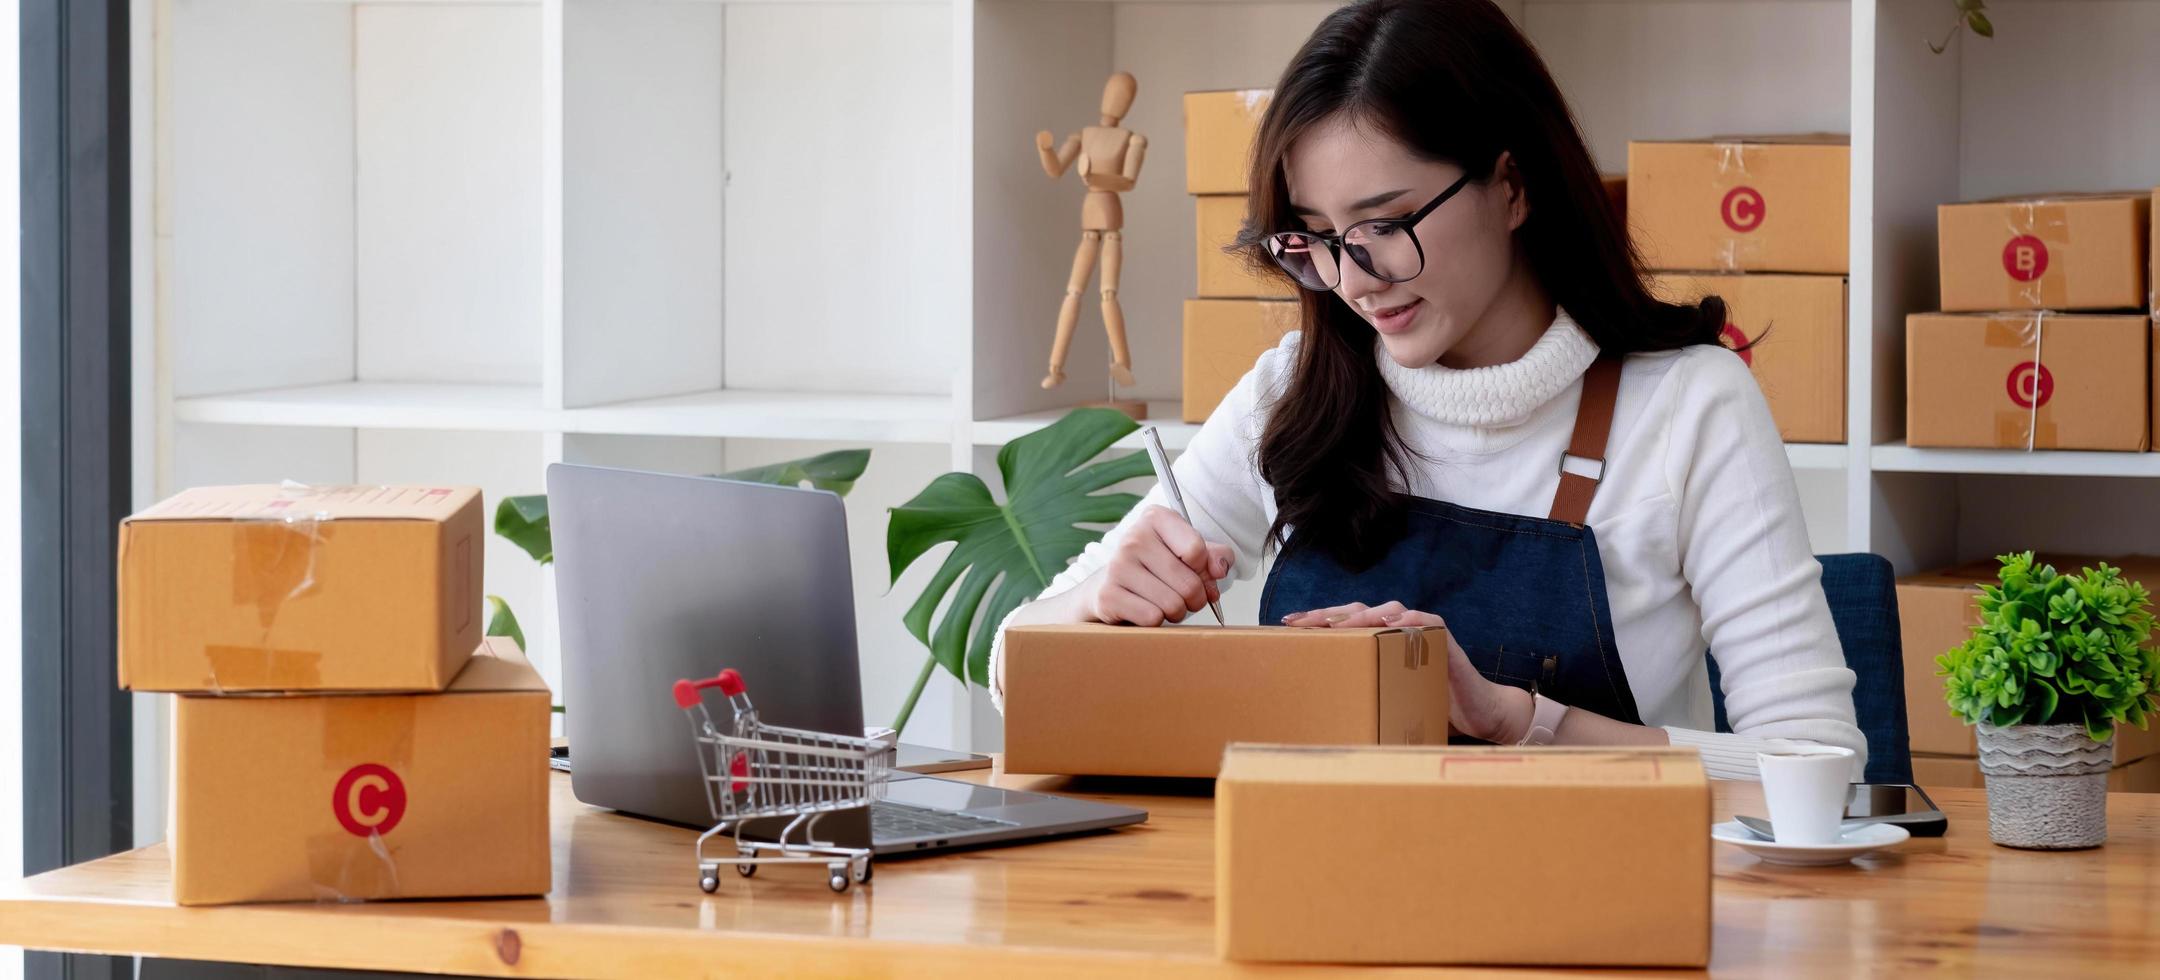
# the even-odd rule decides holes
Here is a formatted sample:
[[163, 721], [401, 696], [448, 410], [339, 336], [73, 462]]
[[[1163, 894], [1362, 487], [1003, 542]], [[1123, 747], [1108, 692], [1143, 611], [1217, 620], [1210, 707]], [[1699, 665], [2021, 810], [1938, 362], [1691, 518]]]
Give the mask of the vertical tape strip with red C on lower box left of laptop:
[[413, 768], [413, 695], [350, 695], [326, 712], [322, 781], [335, 820], [307, 840], [307, 876], [318, 902], [363, 902], [397, 896], [397, 859], [382, 835], [404, 818], [404, 781]]

